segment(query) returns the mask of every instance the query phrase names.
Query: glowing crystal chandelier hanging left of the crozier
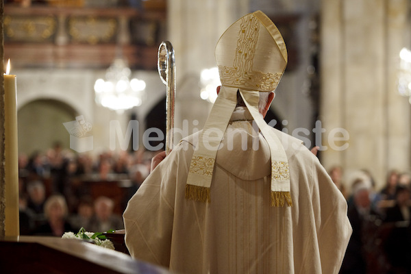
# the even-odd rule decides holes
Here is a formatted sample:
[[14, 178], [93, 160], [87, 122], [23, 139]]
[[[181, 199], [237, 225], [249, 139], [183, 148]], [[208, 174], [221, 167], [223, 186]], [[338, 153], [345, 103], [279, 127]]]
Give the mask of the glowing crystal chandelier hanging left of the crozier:
[[123, 58], [116, 58], [105, 72], [105, 79], [95, 82], [95, 100], [99, 105], [122, 113], [138, 107], [146, 97], [145, 82], [133, 78], [132, 71]]

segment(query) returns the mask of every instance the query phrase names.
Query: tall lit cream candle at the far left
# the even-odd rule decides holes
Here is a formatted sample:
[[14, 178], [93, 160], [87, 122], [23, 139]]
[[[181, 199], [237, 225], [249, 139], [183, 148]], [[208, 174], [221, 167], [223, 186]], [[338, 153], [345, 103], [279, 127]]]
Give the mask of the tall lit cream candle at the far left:
[[5, 236], [18, 236], [18, 147], [16, 75], [4, 74], [5, 120]]

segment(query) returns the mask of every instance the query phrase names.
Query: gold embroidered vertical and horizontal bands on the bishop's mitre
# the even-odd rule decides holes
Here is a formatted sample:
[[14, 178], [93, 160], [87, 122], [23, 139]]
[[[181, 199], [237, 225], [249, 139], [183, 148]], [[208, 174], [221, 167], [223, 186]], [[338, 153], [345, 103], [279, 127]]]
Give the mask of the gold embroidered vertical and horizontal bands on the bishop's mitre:
[[251, 90], [272, 91], [277, 88], [282, 73], [262, 73], [253, 71], [254, 53], [260, 21], [254, 16], [241, 18], [237, 40], [236, 55], [232, 67], [219, 66], [221, 84], [225, 86], [244, 86]]

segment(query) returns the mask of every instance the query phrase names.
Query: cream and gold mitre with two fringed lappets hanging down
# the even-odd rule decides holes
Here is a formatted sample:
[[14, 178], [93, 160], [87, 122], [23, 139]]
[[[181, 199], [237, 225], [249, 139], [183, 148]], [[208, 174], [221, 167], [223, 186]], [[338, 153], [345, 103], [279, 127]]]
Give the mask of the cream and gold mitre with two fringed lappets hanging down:
[[[287, 65], [287, 50], [274, 23], [261, 11], [247, 14], [231, 25], [215, 50], [221, 89], [192, 155], [186, 199], [211, 202], [214, 163], [223, 134], [237, 103], [237, 91], [269, 144], [271, 153], [271, 206], [292, 206], [290, 172], [282, 142], [258, 111], [260, 92], [277, 88]], [[270, 191], [267, 189], [267, 191]]]

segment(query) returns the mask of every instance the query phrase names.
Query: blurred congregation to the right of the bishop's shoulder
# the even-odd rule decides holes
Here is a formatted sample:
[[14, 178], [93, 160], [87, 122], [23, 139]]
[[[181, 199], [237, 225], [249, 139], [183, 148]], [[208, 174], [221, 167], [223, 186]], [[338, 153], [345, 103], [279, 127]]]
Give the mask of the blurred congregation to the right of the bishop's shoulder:
[[329, 175], [347, 199], [353, 228], [340, 273], [410, 273], [411, 174], [389, 171], [382, 189], [366, 170], [345, 176], [334, 166]]

